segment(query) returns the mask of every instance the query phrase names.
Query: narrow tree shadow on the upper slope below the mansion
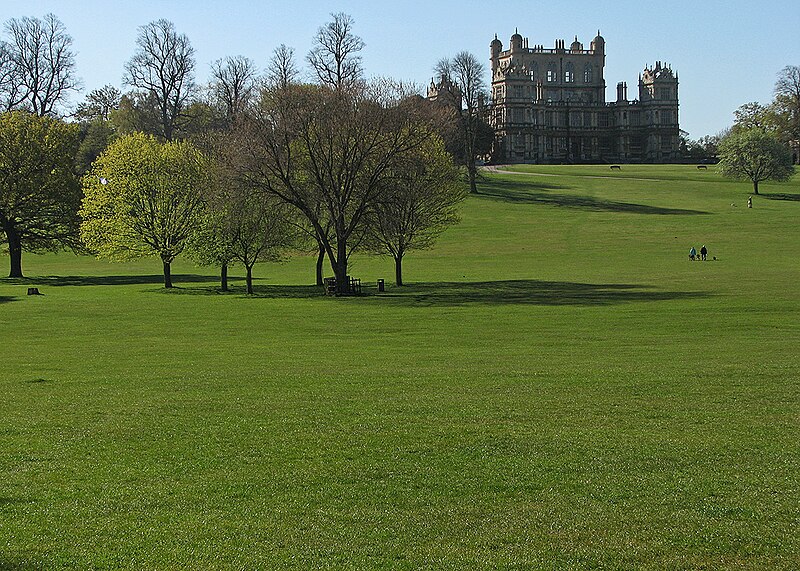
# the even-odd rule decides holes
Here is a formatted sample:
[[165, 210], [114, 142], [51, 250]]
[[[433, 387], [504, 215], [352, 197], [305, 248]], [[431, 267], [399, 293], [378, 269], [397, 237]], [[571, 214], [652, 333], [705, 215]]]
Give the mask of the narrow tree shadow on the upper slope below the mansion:
[[492, 181], [478, 189], [478, 196], [524, 204], [546, 204], [565, 208], [576, 208], [597, 212], [627, 212], [631, 214], [658, 214], [658, 215], [697, 215], [708, 214], [702, 210], [688, 210], [684, 208], [663, 208], [632, 202], [616, 202], [613, 200], [597, 200], [588, 196], [574, 196], [570, 194], [551, 194], [547, 191], [553, 189], [566, 189], [570, 187], [550, 184], [529, 184], [524, 187], [505, 181]]

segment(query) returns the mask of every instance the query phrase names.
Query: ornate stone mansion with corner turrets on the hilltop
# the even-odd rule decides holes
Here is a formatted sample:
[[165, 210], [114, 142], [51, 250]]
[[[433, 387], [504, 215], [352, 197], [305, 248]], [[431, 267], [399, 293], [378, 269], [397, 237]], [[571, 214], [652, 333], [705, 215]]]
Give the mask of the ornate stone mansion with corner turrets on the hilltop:
[[490, 124], [499, 162], [670, 162], [679, 158], [678, 77], [656, 62], [639, 76], [637, 99], [617, 84], [606, 102], [605, 40], [589, 49], [575, 41], [528, 45], [519, 33], [510, 49], [490, 44]]

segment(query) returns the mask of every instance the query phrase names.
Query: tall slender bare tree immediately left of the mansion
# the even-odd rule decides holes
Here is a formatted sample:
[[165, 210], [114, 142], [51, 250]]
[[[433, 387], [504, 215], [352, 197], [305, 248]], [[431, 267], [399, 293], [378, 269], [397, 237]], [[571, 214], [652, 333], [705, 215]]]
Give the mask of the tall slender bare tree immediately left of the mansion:
[[464, 51], [453, 59], [440, 60], [435, 72], [439, 88], [448, 96], [462, 131], [470, 192], [478, 192], [478, 136], [485, 121], [486, 70], [474, 55]]

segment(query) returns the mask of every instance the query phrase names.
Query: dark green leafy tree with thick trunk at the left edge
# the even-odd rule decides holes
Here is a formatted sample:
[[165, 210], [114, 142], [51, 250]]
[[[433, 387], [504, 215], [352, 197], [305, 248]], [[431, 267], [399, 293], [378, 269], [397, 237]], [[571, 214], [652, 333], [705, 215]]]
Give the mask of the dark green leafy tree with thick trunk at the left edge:
[[22, 277], [23, 250], [79, 246], [77, 146], [76, 125], [25, 111], [0, 115], [0, 225], [9, 277]]

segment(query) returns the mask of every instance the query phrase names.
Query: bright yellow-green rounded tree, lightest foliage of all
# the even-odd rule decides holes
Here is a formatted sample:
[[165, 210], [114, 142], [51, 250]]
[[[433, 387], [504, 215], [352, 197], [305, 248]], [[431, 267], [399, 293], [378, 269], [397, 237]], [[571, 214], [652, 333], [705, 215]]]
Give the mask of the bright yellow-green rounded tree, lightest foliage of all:
[[171, 288], [170, 265], [199, 223], [209, 178], [208, 160], [187, 142], [121, 137], [83, 178], [81, 238], [99, 257], [159, 256]]

